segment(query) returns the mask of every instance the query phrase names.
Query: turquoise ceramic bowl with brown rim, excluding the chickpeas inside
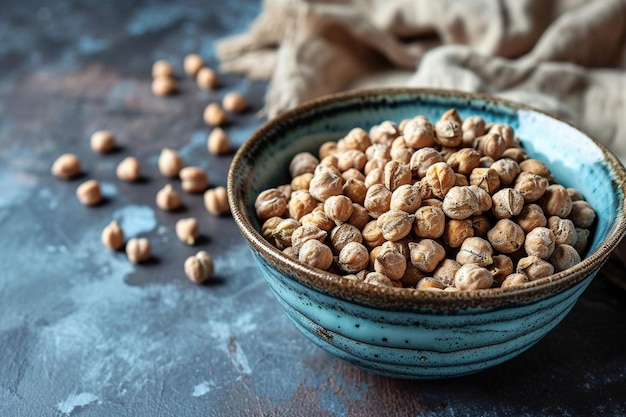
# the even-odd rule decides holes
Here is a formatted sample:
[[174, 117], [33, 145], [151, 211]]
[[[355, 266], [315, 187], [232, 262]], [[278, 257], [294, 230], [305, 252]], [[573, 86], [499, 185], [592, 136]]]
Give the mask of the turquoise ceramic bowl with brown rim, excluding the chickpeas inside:
[[[302, 151], [351, 128], [423, 114], [513, 126], [528, 154], [578, 188], [597, 212], [593, 241], [578, 265], [517, 288], [432, 292], [371, 286], [300, 264], [260, 233], [254, 201], [288, 182]], [[305, 103], [266, 123], [237, 152], [228, 176], [233, 217], [259, 270], [297, 328], [331, 354], [368, 371], [428, 379], [468, 374], [519, 355], [554, 328], [624, 236], [626, 173], [598, 141], [546, 113], [478, 94], [418, 89], [353, 92]]]

